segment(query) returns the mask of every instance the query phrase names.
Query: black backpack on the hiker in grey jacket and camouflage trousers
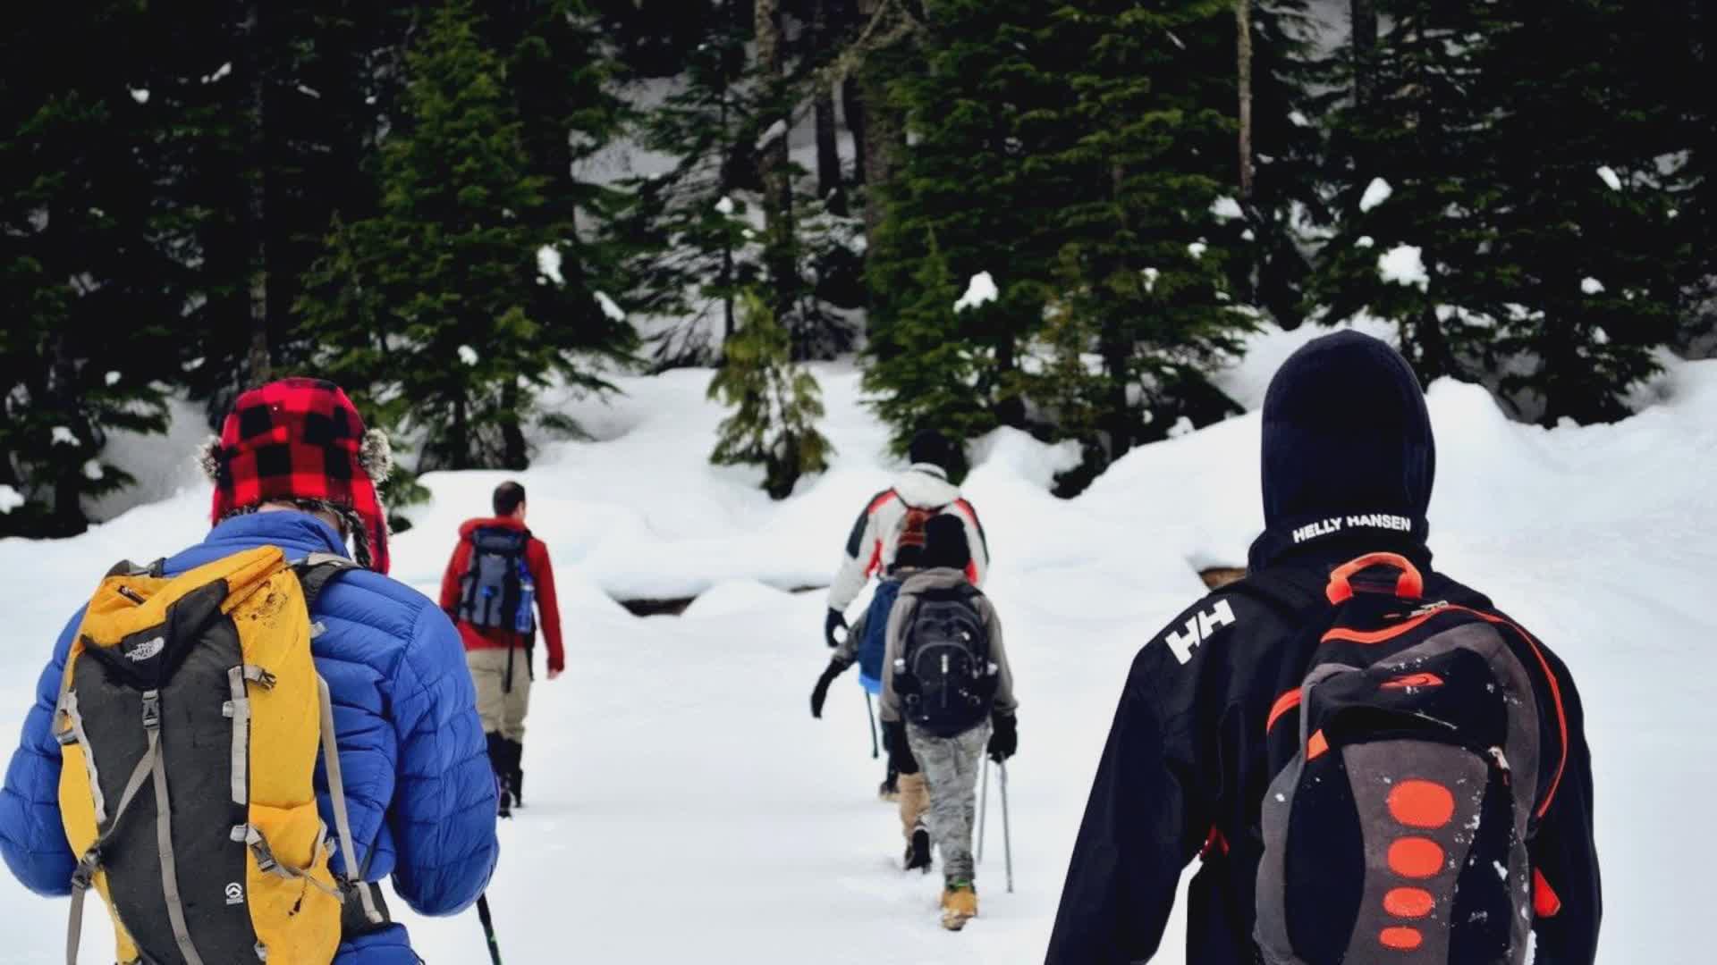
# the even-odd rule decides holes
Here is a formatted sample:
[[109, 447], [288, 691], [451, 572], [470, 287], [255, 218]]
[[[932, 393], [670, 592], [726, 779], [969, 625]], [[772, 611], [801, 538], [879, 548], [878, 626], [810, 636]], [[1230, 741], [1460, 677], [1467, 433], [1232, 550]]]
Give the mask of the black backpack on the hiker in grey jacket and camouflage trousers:
[[998, 668], [968, 584], [917, 594], [919, 606], [895, 659], [895, 692], [908, 723], [956, 737], [989, 718]]

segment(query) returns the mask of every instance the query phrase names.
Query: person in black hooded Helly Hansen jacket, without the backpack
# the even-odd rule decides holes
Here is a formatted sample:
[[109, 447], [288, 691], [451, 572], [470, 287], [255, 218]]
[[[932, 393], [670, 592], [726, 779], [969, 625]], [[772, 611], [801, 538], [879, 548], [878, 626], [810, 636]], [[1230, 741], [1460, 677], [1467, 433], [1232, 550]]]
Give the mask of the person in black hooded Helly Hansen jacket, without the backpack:
[[[1073, 847], [1049, 965], [1150, 960], [1181, 869], [1200, 855], [1186, 962], [1267, 960], [1253, 938], [1262, 798], [1274, 776], [1267, 718], [1283, 682], [1307, 670], [1317, 635], [1300, 630], [1329, 611], [1332, 568], [1398, 553], [1425, 574], [1425, 599], [1494, 613], [1482, 594], [1430, 568], [1434, 470], [1423, 395], [1392, 349], [1343, 331], [1288, 359], [1264, 404], [1265, 532], [1245, 580], [1188, 608], [1133, 659]], [[1533, 692], [1559, 704], [1540, 714], [1544, 757], [1562, 761], [1545, 768], [1556, 780], [1540, 781], [1545, 807], [1528, 826], [1535, 960], [1590, 965], [1602, 903], [1580, 697], [1547, 649], [1532, 666]]]

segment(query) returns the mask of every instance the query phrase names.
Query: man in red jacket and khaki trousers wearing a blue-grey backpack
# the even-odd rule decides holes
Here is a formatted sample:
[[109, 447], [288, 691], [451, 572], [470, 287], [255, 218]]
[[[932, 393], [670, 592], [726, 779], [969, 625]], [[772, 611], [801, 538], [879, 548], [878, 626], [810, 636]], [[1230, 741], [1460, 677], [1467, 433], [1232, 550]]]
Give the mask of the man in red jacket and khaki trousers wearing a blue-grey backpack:
[[[532, 613], [536, 606], [536, 613]], [[501, 783], [501, 810], [524, 805], [525, 711], [531, 707], [531, 654], [537, 616], [548, 640], [548, 678], [567, 666], [560, 646], [560, 606], [548, 546], [525, 529], [525, 488], [494, 488], [494, 515], [465, 520], [441, 577], [441, 610], [458, 623], [465, 666], [477, 685], [477, 714], [489, 762]]]

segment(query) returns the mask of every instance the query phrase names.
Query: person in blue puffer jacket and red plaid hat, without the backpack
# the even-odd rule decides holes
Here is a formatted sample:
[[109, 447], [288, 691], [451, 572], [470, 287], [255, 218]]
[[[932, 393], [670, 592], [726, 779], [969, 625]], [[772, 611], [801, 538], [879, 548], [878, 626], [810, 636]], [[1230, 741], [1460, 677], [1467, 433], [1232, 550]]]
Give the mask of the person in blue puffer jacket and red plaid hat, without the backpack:
[[[452, 915], [477, 900], [494, 871], [496, 786], [458, 632], [440, 606], [385, 575], [386, 520], [374, 484], [386, 465], [386, 438], [364, 431], [338, 386], [285, 379], [247, 391], [221, 440], [204, 452], [216, 525], [170, 556], [165, 572], [256, 546], [278, 546], [288, 560], [350, 555], [364, 567], [316, 599], [312, 620], [326, 632], [311, 644], [333, 695], [357, 867], [367, 881], [391, 876], [416, 912]], [[46, 896], [69, 895], [76, 867], [60, 824], [52, 723], [81, 620], [82, 613], [72, 616], [43, 670], [0, 795], [0, 853], [26, 888]], [[319, 762], [316, 795], [331, 828]], [[345, 860], [337, 853], [335, 869]], [[417, 965], [419, 958], [403, 926], [386, 924], [347, 932], [335, 962]]]

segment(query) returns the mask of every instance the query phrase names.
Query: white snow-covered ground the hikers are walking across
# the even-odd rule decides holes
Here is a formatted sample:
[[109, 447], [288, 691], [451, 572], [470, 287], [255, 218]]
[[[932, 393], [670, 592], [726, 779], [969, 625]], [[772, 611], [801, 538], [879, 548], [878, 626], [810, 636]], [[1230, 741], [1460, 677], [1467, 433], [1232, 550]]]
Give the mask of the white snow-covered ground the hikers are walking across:
[[[1224, 386], [1248, 407], [1307, 333], [1271, 333]], [[826, 661], [821, 592], [864, 500], [886, 484], [884, 429], [858, 376], [817, 367], [834, 469], [771, 503], [759, 474], [707, 465], [721, 412], [707, 373], [622, 379], [611, 407], [568, 402], [599, 441], [546, 445], [522, 474], [555, 555], [568, 673], [539, 682], [529, 807], [503, 822], [489, 891], [507, 960], [1028, 963], [1042, 958], [1066, 855], [1133, 652], [1204, 592], [1197, 568], [1241, 565], [1262, 524], [1257, 416], [1145, 446], [1083, 496], [1049, 496], [1066, 453], [1015, 433], [980, 448], [967, 493], [989, 531], [989, 591], [1022, 701], [1010, 766], [1013, 864], [999, 814], [979, 871], [982, 917], [936, 926], [939, 881], [898, 871], [852, 675], [810, 719]], [[1717, 362], [1678, 364], [1640, 416], [1554, 431], [1508, 422], [1475, 386], [1437, 383], [1432, 546], [1573, 666], [1597, 761], [1607, 965], [1703, 963], [1695, 941], [1703, 833], [1717, 797]], [[177, 453], [175, 453], [177, 458]], [[189, 458], [189, 452], [185, 453]], [[433, 591], [453, 527], [496, 472], [428, 479], [434, 501], [398, 537], [397, 574]], [[12, 644], [0, 718], [15, 726], [65, 615], [108, 563], [196, 539], [189, 488], [60, 543], [0, 543]], [[613, 598], [701, 594], [683, 616]], [[991, 795], [991, 809], [998, 802]], [[398, 908], [398, 905], [395, 905]], [[58, 962], [64, 901], [0, 876], [5, 962]], [[484, 962], [476, 915], [407, 915], [429, 962]], [[105, 917], [86, 944], [103, 950]], [[1178, 963], [1178, 926], [1162, 962]]]

